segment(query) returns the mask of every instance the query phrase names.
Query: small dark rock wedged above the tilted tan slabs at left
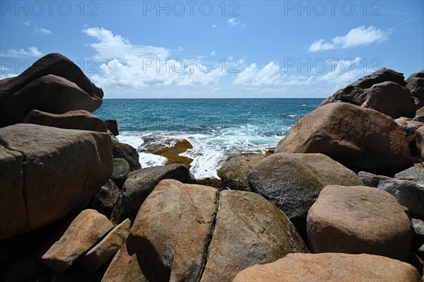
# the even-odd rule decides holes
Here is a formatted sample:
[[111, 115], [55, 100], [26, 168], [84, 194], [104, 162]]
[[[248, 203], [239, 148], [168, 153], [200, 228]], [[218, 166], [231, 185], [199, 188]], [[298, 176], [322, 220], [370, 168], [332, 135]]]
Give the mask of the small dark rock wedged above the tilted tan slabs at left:
[[113, 208], [119, 198], [119, 187], [109, 180], [100, 190], [93, 196], [90, 207], [99, 213], [104, 214], [107, 218], [112, 214]]

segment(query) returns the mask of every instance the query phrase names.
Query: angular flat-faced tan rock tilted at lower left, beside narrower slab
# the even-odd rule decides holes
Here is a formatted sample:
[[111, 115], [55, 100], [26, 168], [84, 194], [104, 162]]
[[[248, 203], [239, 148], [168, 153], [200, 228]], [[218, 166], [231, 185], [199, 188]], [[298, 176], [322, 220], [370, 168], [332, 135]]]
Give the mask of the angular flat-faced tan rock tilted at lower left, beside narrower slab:
[[54, 238], [53, 244], [47, 245], [41, 252], [40, 262], [60, 273], [68, 269], [112, 228], [113, 224], [98, 211], [81, 211], [59, 240]]

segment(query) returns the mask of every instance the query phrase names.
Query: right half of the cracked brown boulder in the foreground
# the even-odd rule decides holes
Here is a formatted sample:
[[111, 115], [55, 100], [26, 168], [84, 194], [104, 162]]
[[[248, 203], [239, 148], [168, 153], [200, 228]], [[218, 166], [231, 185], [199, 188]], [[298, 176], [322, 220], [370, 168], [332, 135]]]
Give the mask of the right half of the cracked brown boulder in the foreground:
[[225, 190], [201, 282], [231, 281], [242, 269], [291, 252], [308, 252], [297, 230], [276, 206], [252, 192]]

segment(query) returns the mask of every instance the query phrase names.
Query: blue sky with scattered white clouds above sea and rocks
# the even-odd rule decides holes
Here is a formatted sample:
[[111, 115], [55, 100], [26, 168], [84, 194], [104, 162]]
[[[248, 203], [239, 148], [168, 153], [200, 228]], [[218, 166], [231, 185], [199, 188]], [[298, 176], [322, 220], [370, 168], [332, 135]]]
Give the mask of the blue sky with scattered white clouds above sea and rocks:
[[326, 98], [424, 69], [424, 1], [0, 1], [0, 78], [59, 52], [105, 98]]

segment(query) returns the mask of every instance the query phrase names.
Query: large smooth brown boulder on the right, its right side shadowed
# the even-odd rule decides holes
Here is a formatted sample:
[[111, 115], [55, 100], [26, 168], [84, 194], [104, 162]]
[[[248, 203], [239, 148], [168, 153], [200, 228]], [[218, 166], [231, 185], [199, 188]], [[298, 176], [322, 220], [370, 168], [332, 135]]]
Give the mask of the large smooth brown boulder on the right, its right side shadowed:
[[393, 175], [413, 165], [393, 119], [343, 102], [318, 107], [278, 142], [276, 153], [324, 153], [355, 172]]

